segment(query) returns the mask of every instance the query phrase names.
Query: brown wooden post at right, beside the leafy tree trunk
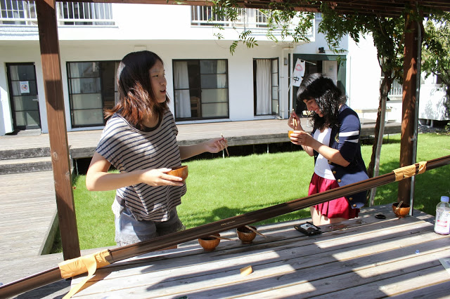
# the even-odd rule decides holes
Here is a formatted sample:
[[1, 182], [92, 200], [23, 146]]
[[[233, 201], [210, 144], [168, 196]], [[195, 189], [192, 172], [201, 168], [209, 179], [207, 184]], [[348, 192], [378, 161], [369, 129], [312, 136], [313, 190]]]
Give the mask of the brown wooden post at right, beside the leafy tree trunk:
[[[403, 103], [401, 117], [400, 167], [415, 164], [414, 124], [416, 118], [416, 88], [417, 88], [417, 54], [418, 28], [416, 22], [409, 21], [405, 25]], [[411, 197], [411, 178], [399, 182], [398, 201], [409, 203]]]

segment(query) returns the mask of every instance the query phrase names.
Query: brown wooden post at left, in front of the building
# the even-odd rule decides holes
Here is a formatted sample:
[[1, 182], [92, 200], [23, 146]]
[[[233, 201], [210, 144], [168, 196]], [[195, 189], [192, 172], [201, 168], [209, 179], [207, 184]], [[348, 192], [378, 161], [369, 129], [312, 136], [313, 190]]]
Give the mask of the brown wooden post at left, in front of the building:
[[70, 173], [68, 135], [65, 126], [55, 3], [55, 0], [35, 1], [56, 206], [58, 208], [59, 228], [63, 243], [63, 256], [65, 260], [68, 260], [78, 258], [80, 251]]

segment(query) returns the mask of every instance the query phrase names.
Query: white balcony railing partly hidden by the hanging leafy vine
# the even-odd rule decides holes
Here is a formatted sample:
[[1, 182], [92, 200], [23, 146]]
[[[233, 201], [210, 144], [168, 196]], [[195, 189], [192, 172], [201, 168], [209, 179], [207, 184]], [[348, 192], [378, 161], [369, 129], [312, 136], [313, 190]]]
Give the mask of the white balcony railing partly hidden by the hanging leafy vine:
[[[269, 27], [267, 24], [268, 15], [256, 8], [240, 8], [238, 18], [235, 21], [218, 18], [212, 11], [211, 6], [191, 6], [191, 25], [192, 26], [213, 26], [222, 27], [243, 27], [246, 29], [260, 29], [256, 32], [266, 32]], [[314, 22], [313, 22], [314, 25]], [[309, 35], [312, 35], [314, 28], [311, 28]]]

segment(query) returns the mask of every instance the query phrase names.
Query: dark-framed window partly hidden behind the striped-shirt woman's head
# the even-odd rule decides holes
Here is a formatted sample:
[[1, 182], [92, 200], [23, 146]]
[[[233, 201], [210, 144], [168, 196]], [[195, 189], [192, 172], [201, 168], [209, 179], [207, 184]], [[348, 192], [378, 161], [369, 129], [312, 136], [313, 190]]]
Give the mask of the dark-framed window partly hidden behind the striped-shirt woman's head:
[[103, 109], [117, 101], [115, 74], [119, 62], [68, 62], [72, 128], [103, 126]]

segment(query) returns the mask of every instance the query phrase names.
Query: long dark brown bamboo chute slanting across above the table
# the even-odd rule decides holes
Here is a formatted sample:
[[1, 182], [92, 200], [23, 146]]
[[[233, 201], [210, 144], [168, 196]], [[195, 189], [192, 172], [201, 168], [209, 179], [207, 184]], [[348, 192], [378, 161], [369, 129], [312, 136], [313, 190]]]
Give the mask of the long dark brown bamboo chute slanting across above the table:
[[[361, 182], [356, 182], [352, 185], [338, 187], [336, 189], [314, 194], [309, 197], [294, 199], [293, 201], [288, 201], [283, 204], [269, 206], [267, 208], [262, 208], [250, 213], [245, 213], [231, 218], [211, 222], [205, 225], [200, 225], [198, 227], [193, 227], [182, 232], [175, 232], [163, 237], [158, 237], [156, 239], [152, 239], [151, 241], [144, 241], [129, 246], [113, 248], [109, 250], [109, 255], [105, 255], [105, 261], [109, 264], [112, 264], [120, 260], [132, 258], [136, 255], [141, 255], [150, 251], [157, 251], [162, 248], [167, 248], [187, 241], [192, 241], [194, 239], [205, 237], [216, 232], [224, 232], [236, 227], [249, 225], [254, 222], [273, 218], [278, 215], [298, 211], [302, 208], [321, 204], [331, 199], [343, 197], [348, 194], [354, 194], [364, 190], [369, 190], [373, 187], [386, 185], [390, 182], [411, 178], [411, 176], [413, 175], [439, 168], [441, 166], [446, 166], [448, 164], [450, 164], [450, 156], [419, 162], [411, 166], [398, 168], [390, 173], [386, 173], [385, 175], [379, 175], [375, 178], [369, 178]], [[107, 265], [108, 263], [105, 264]], [[63, 279], [63, 277], [61, 276], [60, 267], [53, 267], [44, 272], [39, 272], [29, 277], [25, 277], [23, 279], [19, 279], [9, 284], [0, 286], [0, 298], [8, 298], [13, 295], [18, 295], [20, 293], [30, 291], [34, 288], [45, 286], [46, 284], [51, 284], [60, 279]]]

